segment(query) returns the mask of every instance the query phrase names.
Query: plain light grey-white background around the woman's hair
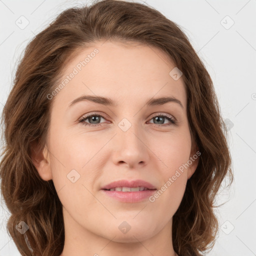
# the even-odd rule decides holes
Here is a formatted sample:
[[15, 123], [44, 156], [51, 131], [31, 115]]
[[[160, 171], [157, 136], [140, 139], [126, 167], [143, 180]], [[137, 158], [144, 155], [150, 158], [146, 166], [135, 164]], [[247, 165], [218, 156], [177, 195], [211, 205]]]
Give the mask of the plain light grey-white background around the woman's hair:
[[[16, 61], [28, 41], [56, 14], [79, 3], [86, 1], [0, 0], [0, 111], [11, 88]], [[229, 127], [234, 182], [217, 198], [218, 204], [226, 203], [216, 209], [219, 235], [208, 255], [256, 255], [256, 0], [145, 3], [187, 34], [213, 79], [221, 114]], [[0, 204], [0, 256], [20, 255], [6, 231], [8, 216], [6, 206]]]

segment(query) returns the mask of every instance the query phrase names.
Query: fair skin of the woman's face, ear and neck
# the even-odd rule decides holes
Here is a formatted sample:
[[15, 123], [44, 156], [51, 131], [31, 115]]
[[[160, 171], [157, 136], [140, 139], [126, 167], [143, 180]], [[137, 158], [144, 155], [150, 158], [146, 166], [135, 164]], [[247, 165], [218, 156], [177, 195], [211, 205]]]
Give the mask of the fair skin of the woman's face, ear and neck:
[[[33, 155], [40, 177], [53, 180], [63, 205], [61, 256], [177, 255], [172, 246], [172, 216], [198, 158], [154, 202], [120, 202], [100, 188], [119, 179], [143, 179], [160, 189], [195, 154], [182, 76], [172, 79], [169, 72], [175, 65], [158, 48], [98, 41], [68, 62], [63, 79], [94, 48], [99, 50], [95, 57], [51, 99], [47, 144]], [[109, 97], [117, 106], [84, 100], [68, 108], [83, 94]], [[183, 108], [175, 102], [145, 105], [152, 97], [167, 95], [179, 99]], [[84, 122], [101, 126], [78, 122], [94, 112], [107, 118]], [[166, 118], [157, 122], [153, 117], [160, 114], [174, 117], [176, 125], [167, 125], [171, 122]], [[118, 126], [123, 118], [131, 124], [125, 132]], [[72, 169], [80, 175], [74, 183], [67, 178]], [[126, 233], [118, 228], [123, 221], [131, 227]]]

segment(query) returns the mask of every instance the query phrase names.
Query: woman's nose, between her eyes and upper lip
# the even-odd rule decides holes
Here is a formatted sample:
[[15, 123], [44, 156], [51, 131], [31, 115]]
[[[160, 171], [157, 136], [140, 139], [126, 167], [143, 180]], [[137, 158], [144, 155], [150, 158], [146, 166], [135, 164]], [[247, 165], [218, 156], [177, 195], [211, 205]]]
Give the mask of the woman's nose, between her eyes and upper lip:
[[[119, 129], [119, 127], [118, 127]], [[149, 161], [150, 150], [143, 130], [138, 130], [136, 125], [131, 125], [126, 131], [117, 129], [117, 134], [112, 141], [112, 160], [116, 165], [128, 168], [140, 168]]]

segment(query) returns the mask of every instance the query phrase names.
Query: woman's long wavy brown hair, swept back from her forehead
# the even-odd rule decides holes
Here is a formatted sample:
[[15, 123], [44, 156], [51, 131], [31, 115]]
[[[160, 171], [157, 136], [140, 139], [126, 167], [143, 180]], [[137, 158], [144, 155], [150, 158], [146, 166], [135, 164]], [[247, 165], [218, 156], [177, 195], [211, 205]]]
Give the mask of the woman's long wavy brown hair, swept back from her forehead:
[[[62, 204], [52, 180], [40, 178], [31, 145], [46, 145], [54, 90], [65, 64], [97, 40], [142, 42], [168, 54], [183, 73], [192, 141], [201, 152], [173, 215], [172, 243], [179, 256], [202, 255], [218, 234], [215, 197], [225, 176], [233, 181], [227, 129], [212, 80], [187, 36], [151, 6], [96, 0], [68, 8], [26, 46], [2, 112], [4, 147], [0, 161], [1, 193], [10, 211], [7, 232], [22, 255], [59, 256], [64, 245]], [[16, 225], [29, 229], [21, 234]]]

